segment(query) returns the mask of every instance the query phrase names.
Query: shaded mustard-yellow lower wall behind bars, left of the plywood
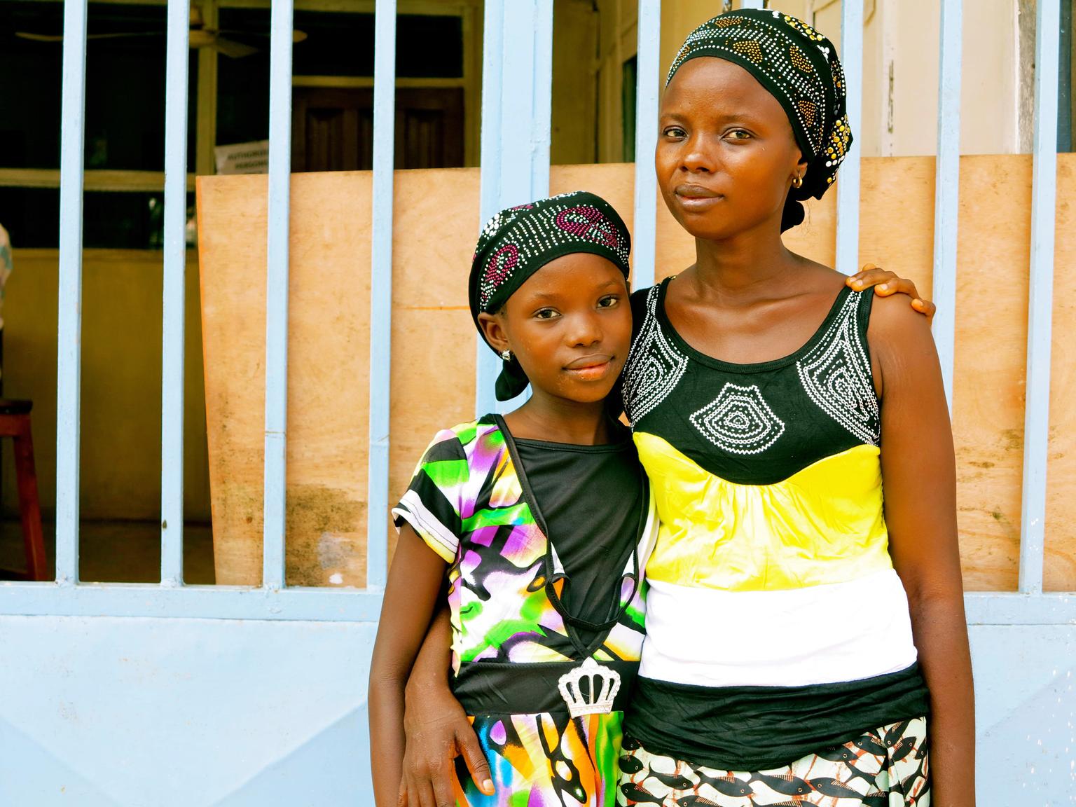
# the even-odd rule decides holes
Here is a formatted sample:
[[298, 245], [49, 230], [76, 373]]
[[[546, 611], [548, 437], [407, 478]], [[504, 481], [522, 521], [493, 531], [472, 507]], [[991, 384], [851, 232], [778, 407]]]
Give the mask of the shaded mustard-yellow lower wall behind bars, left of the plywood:
[[[81, 512], [87, 519], [156, 520], [160, 513], [159, 252], [86, 250], [82, 305]], [[41, 504], [56, 507], [56, 250], [14, 251], [4, 301], [4, 395], [33, 400]], [[186, 284], [184, 508], [209, 519], [198, 265]], [[3, 512], [17, 511], [10, 447]]]

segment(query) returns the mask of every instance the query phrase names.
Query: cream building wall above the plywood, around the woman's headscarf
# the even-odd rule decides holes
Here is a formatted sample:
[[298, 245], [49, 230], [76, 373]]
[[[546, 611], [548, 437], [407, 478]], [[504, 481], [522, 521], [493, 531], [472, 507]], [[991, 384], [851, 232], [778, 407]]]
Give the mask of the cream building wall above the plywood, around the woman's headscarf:
[[[961, 151], [1011, 154], [1020, 151], [1018, 0], [964, 3]], [[606, 17], [634, 23], [633, 0], [601, 0], [600, 159], [619, 158], [619, 68], [635, 52]], [[770, 6], [813, 23], [840, 43], [840, 0], [771, 0]], [[716, 0], [666, 1], [662, 8], [661, 71], [684, 37], [719, 13]], [[934, 154], [937, 128], [938, 31], [936, 0], [866, 0], [863, 42], [863, 118], [856, 133], [864, 156]], [[634, 31], [634, 26], [632, 26]], [[613, 58], [613, 54], [615, 58]], [[1027, 54], [1024, 54], [1027, 59]], [[618, 61], [619, 60], [619, 61]], [[555, 101], [554, 101], [555, 102]]]

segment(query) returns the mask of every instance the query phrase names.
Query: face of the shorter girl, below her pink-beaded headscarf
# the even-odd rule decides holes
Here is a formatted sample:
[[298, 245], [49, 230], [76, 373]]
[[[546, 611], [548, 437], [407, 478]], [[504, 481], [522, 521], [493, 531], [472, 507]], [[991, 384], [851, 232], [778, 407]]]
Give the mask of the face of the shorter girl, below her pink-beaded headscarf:
[[497, 351], [515, 354], [536, 393], [579, 402], [609, 395], [632, 342], [623, 273], [584, 252], [551, 260], [479, 323]]

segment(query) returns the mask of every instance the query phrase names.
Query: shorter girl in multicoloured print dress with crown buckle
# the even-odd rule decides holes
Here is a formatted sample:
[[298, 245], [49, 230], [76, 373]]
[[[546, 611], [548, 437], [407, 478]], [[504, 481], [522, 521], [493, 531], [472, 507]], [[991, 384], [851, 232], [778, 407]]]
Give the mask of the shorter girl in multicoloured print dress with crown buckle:
[[482, 231], [471, 315], [504, 360], [498, 399], [528, 382], [533, 394], [438, 434], [393, 510], [369, 694], [381, 807], [397, 802], [404, 684], [445, 572], [453, 691], [483, 766], [461, 768], [441, 803], [613, 801], [656, 535], [631, 435], [605, 406], [631, 344], [628, 251], [620, 216], [585, 193], [502, 211]]

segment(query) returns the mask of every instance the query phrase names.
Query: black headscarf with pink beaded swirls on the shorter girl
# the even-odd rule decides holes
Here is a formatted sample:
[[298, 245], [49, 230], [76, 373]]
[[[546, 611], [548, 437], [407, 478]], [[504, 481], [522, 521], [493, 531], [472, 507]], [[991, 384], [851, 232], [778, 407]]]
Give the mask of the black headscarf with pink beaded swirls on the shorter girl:
[[[475, 327], [482, 334], [479, 313], [496, 313], [527, 278], [575, 252], [608, 258], [624, 278], [628, 275], [632, 237], [620, 214], [600, 196], [576, 190], [493, 216], [482, 228], [471, 259], [468, 298]], [[528, 383], [512, 356], [497, 377], [497, 400], [514, 398]]]

